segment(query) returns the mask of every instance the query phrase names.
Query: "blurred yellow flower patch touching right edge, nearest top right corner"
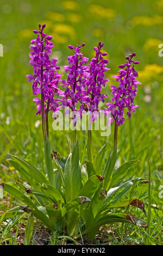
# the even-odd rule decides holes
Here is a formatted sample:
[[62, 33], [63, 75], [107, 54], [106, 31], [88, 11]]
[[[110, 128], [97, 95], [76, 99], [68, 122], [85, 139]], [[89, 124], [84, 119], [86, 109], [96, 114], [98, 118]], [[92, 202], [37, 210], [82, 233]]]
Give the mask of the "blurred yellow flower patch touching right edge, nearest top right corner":
[[163, 17], [159, 15], [155, 15], [149, 17], [147, 15], [143, 16], [135, 16], [132, 21], [134, 26], [142, 25], [142, 26], [155, 26], [155, 25], [163, 25]]

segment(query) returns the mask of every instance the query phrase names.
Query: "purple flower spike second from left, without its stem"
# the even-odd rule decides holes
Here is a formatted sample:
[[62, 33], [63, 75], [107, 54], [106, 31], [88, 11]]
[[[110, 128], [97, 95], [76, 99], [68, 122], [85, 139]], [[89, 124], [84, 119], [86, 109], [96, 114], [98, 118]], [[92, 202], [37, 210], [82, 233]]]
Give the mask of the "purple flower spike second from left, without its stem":
[[77, 103], [82, 105], [83, 102], [89, 100], [86, 92], [87, 76], [89, 75], [89, 67], [86, 65], [88, 58], [84, 57], [80, 51], [84, 45], [84, 43], [77, 47], [68, 45], [68, 48], [74, 50], [74, 55], [68, 57], [68, 65], [64, 66], [67, 79], [61, 80], [62, 87], [66, 88], [61, 100], [62, 106], [70, 107], [72, 111], [79, 111], [79, 113], [81, 111], [77, 110]]

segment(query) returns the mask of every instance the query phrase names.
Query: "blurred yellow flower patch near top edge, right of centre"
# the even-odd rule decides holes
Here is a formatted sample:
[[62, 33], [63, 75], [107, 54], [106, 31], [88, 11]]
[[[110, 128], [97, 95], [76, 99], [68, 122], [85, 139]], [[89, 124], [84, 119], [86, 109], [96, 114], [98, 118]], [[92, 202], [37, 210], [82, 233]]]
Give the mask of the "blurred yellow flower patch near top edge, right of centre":
[[89, 13], [92, 15], [96, 15], [98, 19], [108, 19], [108, 20], [114, 20], [116, 16], [116, 11], [113, 9], [104, 8], [101, 5], [90, 5]]

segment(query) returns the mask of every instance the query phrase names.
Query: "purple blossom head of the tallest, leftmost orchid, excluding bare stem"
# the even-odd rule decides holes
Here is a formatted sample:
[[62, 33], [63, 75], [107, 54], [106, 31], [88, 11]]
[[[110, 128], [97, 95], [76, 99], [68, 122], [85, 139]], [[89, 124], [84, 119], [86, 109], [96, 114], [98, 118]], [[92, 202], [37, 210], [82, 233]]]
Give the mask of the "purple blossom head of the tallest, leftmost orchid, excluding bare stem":
[[37, 114], [41, 114], [41, 106], [44, 106], [45, 115], [49, 111], [59, 111], [59, 99], [54, 99], [54, 95], [61, 97], [63, 92], [58, 88], [61, 75], [57, 70], [60, 69], [57, 65], [58, 59], [49, 59], [49, 55], [52, 53], [54, 47], [51, 42], [52, 36], [43, 33], [43, 29], [46, 25], [39, 25], [39, 31], [34, 30], [37, 34], [37, 38], [31, 41], [29, 53], [30, 64], [33, 65], [34, 75], [27, 75], [28, 82], [33, 82], [33, 94], [41, 94], [41, 99], [35, 97], [35, 105], [37, 108]]

